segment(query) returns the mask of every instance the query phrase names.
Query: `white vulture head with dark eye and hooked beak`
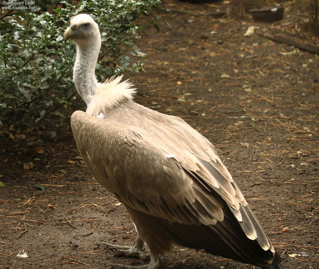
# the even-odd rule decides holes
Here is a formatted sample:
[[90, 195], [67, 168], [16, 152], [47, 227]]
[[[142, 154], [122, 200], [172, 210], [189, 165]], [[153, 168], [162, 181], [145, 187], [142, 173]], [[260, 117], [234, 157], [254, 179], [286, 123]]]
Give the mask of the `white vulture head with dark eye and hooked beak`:
[[65, 30], [64, 42], [69, 39], [81, 47], [101, 43], [99, 26], [89, 15], [79, 14], [71, 19], [70, 26]]

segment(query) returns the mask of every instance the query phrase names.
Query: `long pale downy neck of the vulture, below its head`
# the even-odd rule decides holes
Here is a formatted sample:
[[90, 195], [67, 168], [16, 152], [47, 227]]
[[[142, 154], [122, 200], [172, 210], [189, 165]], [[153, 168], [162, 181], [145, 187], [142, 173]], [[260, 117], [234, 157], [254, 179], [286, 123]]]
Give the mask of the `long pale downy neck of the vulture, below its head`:
[[86, 105], [90, 103], [90, 96], [95, 94], [98, 81], [95, 76], [95, 66], [101, 48], [101, 40], [93, 43], [78, 44], [77, 56], [73, 68], [73, 80], [81, 98]]

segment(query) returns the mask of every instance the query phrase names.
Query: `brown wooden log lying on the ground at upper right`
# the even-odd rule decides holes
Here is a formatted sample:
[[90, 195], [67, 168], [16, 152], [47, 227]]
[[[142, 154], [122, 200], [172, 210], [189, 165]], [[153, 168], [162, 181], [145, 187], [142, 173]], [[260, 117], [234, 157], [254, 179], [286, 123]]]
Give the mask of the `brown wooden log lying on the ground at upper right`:
[[302, 40], [300, 38], [293, 37], [292, 35], [289, 35], [289, 34], [276, 33], [276, 34], [263, 34], [263, 36], [274, 41], [295, 46], [299, 49], [306, 50], [311, 53], [319, 54], [319, 46], [313, 43], [310, 43], [308, 41]]

